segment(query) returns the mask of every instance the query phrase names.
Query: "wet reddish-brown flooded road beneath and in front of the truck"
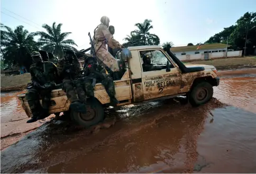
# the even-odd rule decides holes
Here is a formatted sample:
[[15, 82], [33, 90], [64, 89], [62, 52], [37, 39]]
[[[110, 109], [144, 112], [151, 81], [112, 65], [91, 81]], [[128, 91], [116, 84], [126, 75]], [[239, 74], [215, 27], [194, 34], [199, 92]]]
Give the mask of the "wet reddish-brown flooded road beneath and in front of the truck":
[[177, 98], [109, 109], [89, 130], [47, 122], [1, 152], [1, 172], [255, 173], [256, 70], [220, 74], [220, 101], [197, 108]]

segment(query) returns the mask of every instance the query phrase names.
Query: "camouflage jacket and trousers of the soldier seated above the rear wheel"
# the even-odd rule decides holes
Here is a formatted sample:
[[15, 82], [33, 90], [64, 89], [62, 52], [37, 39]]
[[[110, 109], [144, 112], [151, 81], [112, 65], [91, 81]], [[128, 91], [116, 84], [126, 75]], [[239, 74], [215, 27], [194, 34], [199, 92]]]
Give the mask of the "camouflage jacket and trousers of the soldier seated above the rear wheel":
[[[68, 68], [66, 68], [67, 66]], [[77, 80], [82, 70], [81, 63], [78, 59], [74, 58], [72, 63], [67, 62], [65, 58], [60, 59], [57, 63], [57, 69], [59, 76], [63, 79], [63, 90], [65, 90], [71, 104], [76, 102], [86, 104], [86, 94], [83, 85]], [[74, 88], [76, 88], [77, 92], [75, 92]]]

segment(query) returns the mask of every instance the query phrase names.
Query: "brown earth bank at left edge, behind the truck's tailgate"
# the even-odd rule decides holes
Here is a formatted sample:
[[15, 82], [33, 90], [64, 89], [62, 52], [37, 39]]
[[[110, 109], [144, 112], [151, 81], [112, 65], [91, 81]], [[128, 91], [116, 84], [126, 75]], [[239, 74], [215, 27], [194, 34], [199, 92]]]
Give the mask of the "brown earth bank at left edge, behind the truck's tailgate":
[[16, 76], [1, 76], [1, 91], [23, 90], [30, 81], [30, 73]]

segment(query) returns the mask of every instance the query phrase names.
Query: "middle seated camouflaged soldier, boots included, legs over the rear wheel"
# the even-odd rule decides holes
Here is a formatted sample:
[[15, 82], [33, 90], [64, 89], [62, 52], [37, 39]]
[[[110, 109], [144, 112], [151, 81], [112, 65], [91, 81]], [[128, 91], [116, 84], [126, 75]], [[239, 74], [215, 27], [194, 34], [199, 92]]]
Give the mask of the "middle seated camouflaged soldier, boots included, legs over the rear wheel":
[[65, 58], [59, 60], [57, 68], [59, 76], [63, 79], [63, 90], [65, 90], [71, 102], [71, 109], [86, 113], [86, 94], [78, 80], [81, 76], [82, 66], [75, 52], [73, 50], [65, 50]]

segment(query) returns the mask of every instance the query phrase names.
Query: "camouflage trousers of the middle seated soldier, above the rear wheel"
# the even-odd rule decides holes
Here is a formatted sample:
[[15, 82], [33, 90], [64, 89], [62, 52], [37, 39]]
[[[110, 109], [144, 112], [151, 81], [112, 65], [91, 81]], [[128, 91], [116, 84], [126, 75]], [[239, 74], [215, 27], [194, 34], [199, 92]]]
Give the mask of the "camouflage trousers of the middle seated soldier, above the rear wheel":
[[[76, 91], [75, 91], [76, 88]], [[71, 103], [81, 101], [86, 103], [86, 94], [79, 80], [71, 81], [69, 79], [63, 80], [63, 90], [66, 92]], [[78, 95], [78, 98], [77, 98]]]

